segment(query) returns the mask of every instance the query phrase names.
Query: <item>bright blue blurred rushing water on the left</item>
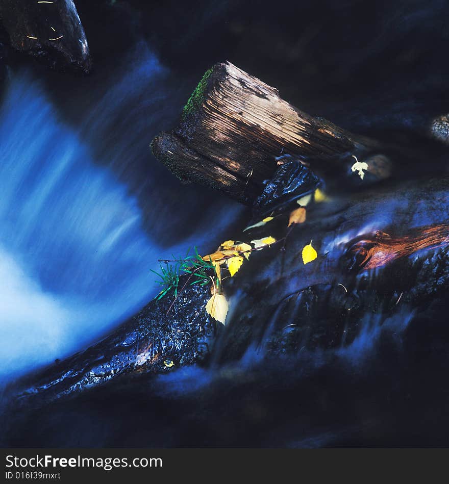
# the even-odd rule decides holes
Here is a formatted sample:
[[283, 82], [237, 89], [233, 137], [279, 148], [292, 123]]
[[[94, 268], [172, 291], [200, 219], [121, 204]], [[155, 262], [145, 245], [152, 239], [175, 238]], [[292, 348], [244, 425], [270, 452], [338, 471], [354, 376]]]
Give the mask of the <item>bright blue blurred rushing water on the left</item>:
[[[101, 337], [158, 291], [158, 258], [212, 236], [209, 224], [160, 244], [164, 220], [144, 226], [123, 183], [135, 159], [151, 157], [160, 113], [148, 112], [168, 76], [144, 51], [73, 126], [32, 73], [11, 74], [0, 109], [0, 383]], [[158, 183], [149, 163], [142, 179]]]

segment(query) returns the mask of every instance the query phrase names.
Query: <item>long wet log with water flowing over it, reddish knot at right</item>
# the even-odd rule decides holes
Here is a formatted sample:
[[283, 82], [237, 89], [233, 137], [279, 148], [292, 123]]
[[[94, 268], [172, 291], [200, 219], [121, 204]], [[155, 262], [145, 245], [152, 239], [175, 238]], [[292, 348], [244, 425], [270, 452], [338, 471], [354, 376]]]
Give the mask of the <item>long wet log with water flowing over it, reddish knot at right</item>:
[[[449, 179], [308, 207], [306, 222], [285, 241], [253, 252], [223, 282], [231, 304], [224, 330], [205, 312], [209, 288], [187, 285], [172, 308], [172, 295], [154, 300], [102, 342], [15, 384], [14, 406], [42, 405], [120, 376], [171, 371], [205, 361], [210, 352], [214, 361], [230, 361], [255, 342], [271, 355], [285, 353], [285, 338], [292, 351], [350, 344], [367, 315], [381, 324], [403, 304], [417, 308], [445, 297], [449, 255], [441, 247], [449, 245], [448, 218]], [[269, 223], [285, 234], [282, 217]], [[273, 227], [257, 230], [266, 235]], [[240, 240], [249, 242], [245, 237]], [[304, 265], [301, 251], [311, 239], [318, 257]]]

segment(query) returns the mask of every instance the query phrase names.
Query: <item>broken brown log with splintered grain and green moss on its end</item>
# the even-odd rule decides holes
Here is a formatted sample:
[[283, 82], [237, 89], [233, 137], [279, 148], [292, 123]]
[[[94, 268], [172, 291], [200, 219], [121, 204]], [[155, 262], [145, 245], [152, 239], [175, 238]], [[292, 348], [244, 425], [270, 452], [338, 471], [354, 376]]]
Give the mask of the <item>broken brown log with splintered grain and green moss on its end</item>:
[[[317, 174], [352, 176], [355, 160], [368, 162], [365, 183], [390, 175], [379, 143], [353, 135], [296, 109], [277, 89], [229, 62], [206, 72], [188, 100], [181, 124], [152, 142], [153, 153], [185, 182], [197, 182], [250, 204], [289, 154]], [[368, 160], [368, 157], [372, 157]]]

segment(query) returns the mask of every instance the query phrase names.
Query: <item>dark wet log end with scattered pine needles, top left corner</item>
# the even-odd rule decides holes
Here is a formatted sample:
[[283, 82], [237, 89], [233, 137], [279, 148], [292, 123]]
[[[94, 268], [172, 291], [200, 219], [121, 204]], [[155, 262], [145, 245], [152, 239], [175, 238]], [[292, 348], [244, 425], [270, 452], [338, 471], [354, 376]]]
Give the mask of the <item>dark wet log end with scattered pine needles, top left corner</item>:
[[62, 70], [89, 72], [86, 34], [72, 0], [0, 0], [0, 18], [15, 49]]

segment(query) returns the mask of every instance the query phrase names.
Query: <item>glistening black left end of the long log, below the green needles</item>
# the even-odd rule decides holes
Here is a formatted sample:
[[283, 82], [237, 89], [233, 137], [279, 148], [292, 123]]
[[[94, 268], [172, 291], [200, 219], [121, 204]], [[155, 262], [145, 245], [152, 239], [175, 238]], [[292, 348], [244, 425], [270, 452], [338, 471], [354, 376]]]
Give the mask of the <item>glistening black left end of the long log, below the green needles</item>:
[[14, 405], [40, 406], [131, 373], [157, 373], [207, 359], [214, 324], [198, 308], [208, 289], [188, 287], [171, 306], [169, 298], [149, 302], [110, 336], [85, 351], [57, 361], [9, 388]]

